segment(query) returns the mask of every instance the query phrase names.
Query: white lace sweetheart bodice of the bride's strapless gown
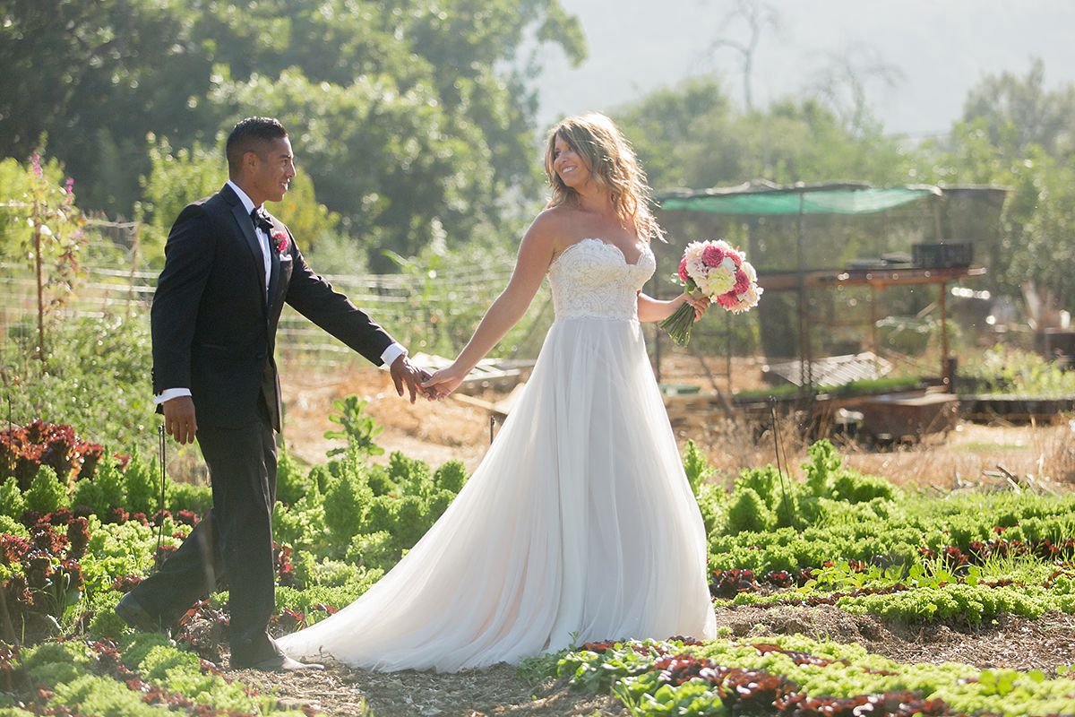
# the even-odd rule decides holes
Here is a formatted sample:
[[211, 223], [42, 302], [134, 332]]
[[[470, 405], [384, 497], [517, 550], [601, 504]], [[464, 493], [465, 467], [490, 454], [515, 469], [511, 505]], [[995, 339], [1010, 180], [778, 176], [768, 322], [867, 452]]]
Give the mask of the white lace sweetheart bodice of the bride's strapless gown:
[[656, 269], [648, 244], [636, 263], [628, 263], [619, 247], [600, 239], [572, 244], [548, 270], [557, 320], [580, 316], [637, 319], [637, 292]]

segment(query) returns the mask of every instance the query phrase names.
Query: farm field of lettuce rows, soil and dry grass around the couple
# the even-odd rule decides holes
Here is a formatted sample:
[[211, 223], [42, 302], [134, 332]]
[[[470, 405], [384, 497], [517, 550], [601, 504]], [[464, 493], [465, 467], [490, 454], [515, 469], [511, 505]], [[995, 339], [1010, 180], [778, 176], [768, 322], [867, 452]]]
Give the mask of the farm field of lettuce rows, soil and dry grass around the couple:
[[[412, 406], [381, 373], [286, 375], [280, 633], [390, 569], [489, 431], [484, 411]], [[887, 454], [789, 440], [784, 473], [763, 445], [721, 453], [685, 439], [717, 640], [591, 644], [461, 674], [280, 675], [226, 669], [226, 593], [171, 640], [112, 613], [204, 512], [204, 486], [169, 478], [157, 513], [154, 459], [114, 459], [66, 427], [9, 430], [0, 715], [1075, 715], [1075, 496], [1034, 472], [1062, 464], [1070, 431], [965, 425], [944, 445]], [[175, 460], [170, 475], [197, 474]], [[1015, 486], [983, 473], [998, 462]]]

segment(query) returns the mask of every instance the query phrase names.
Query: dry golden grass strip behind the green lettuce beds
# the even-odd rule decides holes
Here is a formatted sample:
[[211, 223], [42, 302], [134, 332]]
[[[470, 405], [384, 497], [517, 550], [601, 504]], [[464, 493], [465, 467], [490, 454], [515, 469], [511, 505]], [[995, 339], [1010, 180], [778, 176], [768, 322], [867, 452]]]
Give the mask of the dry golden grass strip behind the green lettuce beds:
[[[744, 388], [749, 385], [747, 376], [760, 373], [756, 365], [739, 365], [733, 371], [736, 381], [745, 384]], [[712, 388], [707, 378], [699, 377], [699, 363], [689, 356], [665, 359], [664, 381], [694, 383], [703, 390]], [[310, 463], [322, 462], [325, 451], [336, 445], [324, 438], [325, 431], [334, 428], [328, 420], [332, 400], [350, 393], [369, 401], [367, 411], [385, 427], [377, 443], [389, 451], [402, 450], [434, 467], [459, 459], [473, 471], [488, 448], [489, 415], [473, 405], [450, 399], [439, 403], [419, 399], [412, 405], [396, 395], [387, 373], [366, 367], [317, 371], [288, 365], [284, 395], [289, 450]], [[503, 397], [487, 393], [484, 398], [496, 401]], [[680, 445], [693, 440], [725, 481], [731, 481], [745, 468], [776, 463], [774, 430], [771, 421], [766, 422], [770, 425], [749, 424], [743, 418], [703, 420], [673, 416]], [[807, 458], [808, 446], [801, 416], [778, 417], [775, 433], [780, 464], [790, 469], [791, 475], [801, 476], [800, 467]], [[1000, 469], [1016, 476], [1031, 475], [1048, 486], [1075, 484], [1075, 429], [1069, 422], [1049, 426], [963, 422], [947, 436], [930, 435], [920, 443], [883, 451], [841, 435], [831, 440], [848, 467], [885, 476], [898, 485], [936, 486], [945, 490], [968, 483], [1000, 485], [1005, 483], [1003, 477], [987, 474]]]

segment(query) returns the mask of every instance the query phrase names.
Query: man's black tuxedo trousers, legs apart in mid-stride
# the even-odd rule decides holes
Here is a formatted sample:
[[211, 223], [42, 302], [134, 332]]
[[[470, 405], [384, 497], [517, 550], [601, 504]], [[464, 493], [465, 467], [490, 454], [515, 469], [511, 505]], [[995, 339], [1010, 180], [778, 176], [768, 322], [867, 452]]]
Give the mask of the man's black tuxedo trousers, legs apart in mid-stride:
[[275, 614], [276, 440], [263, 397], [254, 422], [199, 426], [198, 444], [209, 465], [213, 510], [134, 597], [162, 622], [173, 622], [226, 586], [231, 659], [264, 660], [276, 654], [267, 632]]

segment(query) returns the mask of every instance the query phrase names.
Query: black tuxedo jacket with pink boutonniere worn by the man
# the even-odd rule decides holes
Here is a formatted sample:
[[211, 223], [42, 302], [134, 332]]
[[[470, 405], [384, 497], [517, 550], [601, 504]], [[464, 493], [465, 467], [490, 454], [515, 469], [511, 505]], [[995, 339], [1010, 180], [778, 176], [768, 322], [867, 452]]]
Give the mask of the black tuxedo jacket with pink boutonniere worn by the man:
[[281, 429], [273, 352], [285, 302], [377, 365], [392, 343], [310, 269], [287, 227], [271, 218], [268, 290], [254, 224], [228, 185], [187, 205], [168, 235], [150, 312], [153, 390], [189, 388], [199, 426], [257, 420], [263, 396]]

